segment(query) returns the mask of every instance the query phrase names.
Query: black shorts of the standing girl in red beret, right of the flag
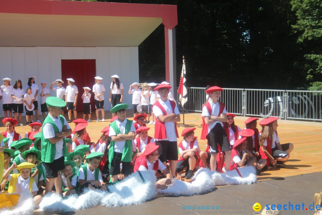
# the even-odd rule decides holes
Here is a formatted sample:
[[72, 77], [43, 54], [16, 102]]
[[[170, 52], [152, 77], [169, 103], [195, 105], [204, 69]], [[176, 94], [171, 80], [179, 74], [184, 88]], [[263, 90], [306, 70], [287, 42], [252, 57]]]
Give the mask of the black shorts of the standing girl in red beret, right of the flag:
[[210, 153], [216, 154], [218, 153], [218, 144], [221, 147], [221, 151], [231, 151], [231, 145], [228, 141], [227, 134], [221, 126], [220, 123], [217, 123], [213, 129], [206, 136], [208, 145], [210, 146]]

